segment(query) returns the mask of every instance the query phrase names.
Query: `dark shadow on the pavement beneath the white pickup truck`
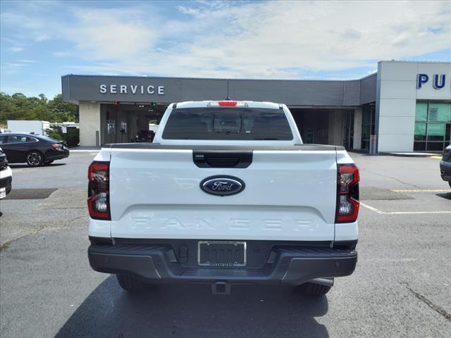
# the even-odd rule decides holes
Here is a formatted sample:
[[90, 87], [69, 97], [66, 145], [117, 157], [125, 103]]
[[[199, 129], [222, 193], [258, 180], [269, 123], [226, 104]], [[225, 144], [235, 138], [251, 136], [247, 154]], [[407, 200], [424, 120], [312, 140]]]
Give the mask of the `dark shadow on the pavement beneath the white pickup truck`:
[[111, 276], [69, 318], [56, 337], [329, 337], [314, 317], [326, 314], [326, 296], [302, 296], [288, 287], [233, 285], [229, 296], [208, 284], [152, 286], [123, 292]]

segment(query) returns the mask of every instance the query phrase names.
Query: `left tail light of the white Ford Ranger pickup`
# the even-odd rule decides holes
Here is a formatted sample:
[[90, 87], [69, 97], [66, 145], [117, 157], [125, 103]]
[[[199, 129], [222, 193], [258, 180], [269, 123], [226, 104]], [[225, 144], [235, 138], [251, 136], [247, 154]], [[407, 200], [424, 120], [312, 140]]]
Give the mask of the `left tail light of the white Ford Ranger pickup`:
[[94, 161], [87, 172], [87, 208], [96, 220], [111, 220], [110, 215], [110, 163]]

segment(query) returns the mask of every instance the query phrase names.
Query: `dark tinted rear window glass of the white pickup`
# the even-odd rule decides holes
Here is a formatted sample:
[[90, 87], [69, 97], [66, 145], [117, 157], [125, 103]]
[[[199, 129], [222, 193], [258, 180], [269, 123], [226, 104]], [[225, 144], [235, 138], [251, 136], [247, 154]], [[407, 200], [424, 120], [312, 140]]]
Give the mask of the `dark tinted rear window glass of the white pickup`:
[[285, 113], [267, 108], [181, 108], [169, 115], [163, 139], [293, 139]]

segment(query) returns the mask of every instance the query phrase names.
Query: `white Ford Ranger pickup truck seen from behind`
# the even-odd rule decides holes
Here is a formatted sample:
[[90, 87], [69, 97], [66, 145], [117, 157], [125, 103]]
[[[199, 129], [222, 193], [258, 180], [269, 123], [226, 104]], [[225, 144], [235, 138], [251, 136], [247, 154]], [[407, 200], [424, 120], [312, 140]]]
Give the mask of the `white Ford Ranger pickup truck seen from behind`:
[[326, 294], [357, 263], [359, 170], [342, 146], [302, 144], [284, 104], [171, 104], [153, 143], [104, 146], [88, 179], [89, 263], [131, 292]]

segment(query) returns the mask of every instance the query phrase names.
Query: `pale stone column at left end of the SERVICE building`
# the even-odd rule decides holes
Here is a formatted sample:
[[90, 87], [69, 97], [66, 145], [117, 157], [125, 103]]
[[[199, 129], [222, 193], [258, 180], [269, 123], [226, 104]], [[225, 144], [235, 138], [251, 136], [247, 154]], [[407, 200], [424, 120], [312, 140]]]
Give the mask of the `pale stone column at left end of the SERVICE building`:
[[[97, 146], [100, 143], [100, 104], [80, 101], [80, 146]], [[99, 134], [97, 139], [96, 134]]]

